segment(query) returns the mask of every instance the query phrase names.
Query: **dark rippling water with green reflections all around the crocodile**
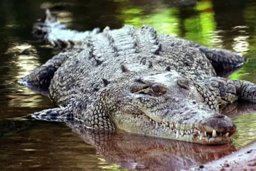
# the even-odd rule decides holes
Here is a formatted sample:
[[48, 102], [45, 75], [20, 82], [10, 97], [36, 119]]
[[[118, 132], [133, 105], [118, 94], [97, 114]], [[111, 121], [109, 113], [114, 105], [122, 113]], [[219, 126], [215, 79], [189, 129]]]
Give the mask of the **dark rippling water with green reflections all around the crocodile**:
[[233, 50], [249, 62], [230, 78], [256, 83], [256, 2], [183, 2], [180, 6], [174, 0], [1, 1], [0, 169], [174, 169], [218, 159], [256, 140], [256, 106], [250, 104], [225, 109], [235, 116], [237, 132], [232, 145], [218, 148], [127, 133], [88, 133], [72, 125], [21, 118], [54, 107], [48, 97], [16, 83], [53, 56], [50, 46], [31, 36], [32, 24], [44, 20], [46, 7], [76, 30], [149, 24], [158, 33]]

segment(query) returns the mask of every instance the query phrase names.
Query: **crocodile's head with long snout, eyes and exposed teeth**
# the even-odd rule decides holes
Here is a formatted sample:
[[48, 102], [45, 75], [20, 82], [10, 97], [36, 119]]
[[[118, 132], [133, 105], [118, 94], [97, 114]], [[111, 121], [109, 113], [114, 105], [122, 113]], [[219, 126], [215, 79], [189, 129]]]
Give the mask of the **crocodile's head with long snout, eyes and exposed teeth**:
[[231, 142], [236, 126], [218, 113], [214, 93], [203, 85], [177, 72], [127, 83], [121, 92], [108, 89], [101, 100], [108, 99], [104, 106], [118, 130], [200, 144]]

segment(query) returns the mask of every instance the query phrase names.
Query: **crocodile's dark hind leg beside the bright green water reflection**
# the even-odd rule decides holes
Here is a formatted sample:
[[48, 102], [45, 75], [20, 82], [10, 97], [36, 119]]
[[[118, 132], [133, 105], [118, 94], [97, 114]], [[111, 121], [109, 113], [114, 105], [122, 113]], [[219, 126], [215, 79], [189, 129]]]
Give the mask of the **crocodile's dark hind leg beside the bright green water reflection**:
[[218, 76], [227, 77], [246, 63], [245, 58], [229, 50], [200, 45], [198, 45], [198, 48], [209, 59]]

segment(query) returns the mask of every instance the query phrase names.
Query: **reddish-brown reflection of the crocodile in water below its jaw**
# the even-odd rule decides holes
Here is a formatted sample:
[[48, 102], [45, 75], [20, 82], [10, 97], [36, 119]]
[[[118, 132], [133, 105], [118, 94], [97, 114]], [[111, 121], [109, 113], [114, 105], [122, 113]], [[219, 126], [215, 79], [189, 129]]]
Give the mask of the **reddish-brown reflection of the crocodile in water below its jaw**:
[[95, 146], [105, 159], [127, 169], [176, 170], [204, 164], [236, 151], [231, 144], [204, 146], [126, 132], [84, 129], [77, 123], [67, 123], [67, 126], [86, 143]]

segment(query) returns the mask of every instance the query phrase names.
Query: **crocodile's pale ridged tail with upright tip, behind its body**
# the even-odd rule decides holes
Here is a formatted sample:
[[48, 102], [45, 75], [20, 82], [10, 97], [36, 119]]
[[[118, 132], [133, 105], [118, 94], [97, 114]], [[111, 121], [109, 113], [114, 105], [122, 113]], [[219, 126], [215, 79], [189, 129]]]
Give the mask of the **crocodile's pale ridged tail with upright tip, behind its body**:
[[45, 22], [35, 23], [32, 33], [37, 38], [49, 41], [55, 48], [65, 50], [83, 48], [84, 40], [96, 35], [99, 31], [99, 28], [84, 32], [67, 29], [66, 25], [58, 21], [56, 16], [47, 9]]

